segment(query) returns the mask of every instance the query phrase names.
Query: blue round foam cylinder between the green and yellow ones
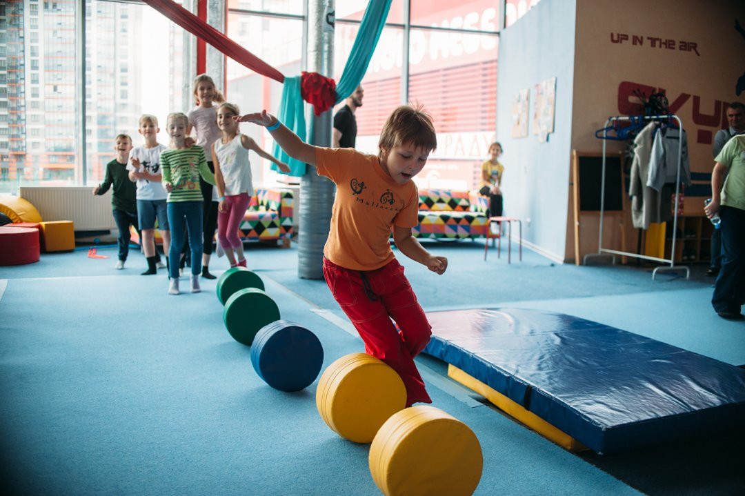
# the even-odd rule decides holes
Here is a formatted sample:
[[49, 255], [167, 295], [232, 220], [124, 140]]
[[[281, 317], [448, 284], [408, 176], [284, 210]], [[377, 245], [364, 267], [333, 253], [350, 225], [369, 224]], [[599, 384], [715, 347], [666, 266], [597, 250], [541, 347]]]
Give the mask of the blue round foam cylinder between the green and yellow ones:
[[259, 377], [274, 389], [299, 391], [318, 377], [323, 365], [323, 346], [308, 329], [277, 320], [256, 333], [251, 363]]

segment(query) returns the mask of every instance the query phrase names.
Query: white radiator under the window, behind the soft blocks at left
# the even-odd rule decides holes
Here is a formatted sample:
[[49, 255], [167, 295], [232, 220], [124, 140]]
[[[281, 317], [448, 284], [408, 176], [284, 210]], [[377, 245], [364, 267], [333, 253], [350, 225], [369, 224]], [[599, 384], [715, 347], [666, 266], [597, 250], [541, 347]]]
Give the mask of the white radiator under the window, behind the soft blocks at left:
[[72, 220], [75, 231], [116, 229], [111, 190], [93, 196], [92, 186], [21, 186], [20, 196], [34, 205], [42, 220]]

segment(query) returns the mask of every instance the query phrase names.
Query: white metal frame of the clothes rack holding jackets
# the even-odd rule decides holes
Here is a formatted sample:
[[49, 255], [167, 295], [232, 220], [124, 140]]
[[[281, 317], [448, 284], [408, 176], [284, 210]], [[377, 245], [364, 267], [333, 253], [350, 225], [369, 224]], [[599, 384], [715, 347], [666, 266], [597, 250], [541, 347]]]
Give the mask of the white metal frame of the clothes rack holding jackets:
[[[674, 118], [678, 122], [678, 127], [680, 130], [680, 139], [678, 140], [678, 170], [677, 170], [677, 176], [676, 176], [676, 182], [675, 182], [675, 209], [673, 209], [673, 238], [671, 241], [671, 249], [670, 249], [670, 258], [658, 258], [658, 257], [650, 257], [647, 255], [640, 255], [638, 253], [630, 253], [630, 252], [621, 252], [615, 249], [607, 249], [603, 248], [603, 208], [605, 207], [605, 165], [606, 165], [606, 143], [608, 141], [607, 139], [607, 133], [608, 129], [611, 124], [616, 124], [620, 121], [636, 121], [639, 118], [642, 118], [644, 121], [655, 121], [655, 120], [662, 120], [662, 119], [668, 119]], [[691, 276], [691, 270], [688, 269], [685, 265], [676, 265], [675, 264], [675, 242], [678, 232], [678, 194], [680, 192], [680, 169], [682, 168], [682, 147], [683, 147], [683, 140], [682, 140], [682, 133], [683, 133], [683, 123], [680, 120], [680, 118], [675, 114], [669, 114], [669, 115], [633, 115], [633, 116], [624, 116], [624, 115], [618, 115], [615, 117], [609, 117], [606, 121], [605, 127], [603, 129], [603, 171], [600, 173], [600, 234], [597, 238], [597, 253], [588, 253], [583, 257], [583, 264], [586, 264], [589, 258], [592, 257], [598, 257], [598, 256], [611, 256], [612, 257], [612, 263], [615, 264], [615, 255], [622, 255], [627, 257], [633, 257], [633, 258], [643, 258], [644, 260], [650, 260], [650, 261], [656, 261], [660, 262], [662, 264], [670, 264], [669, 267], [655, 267], [655, 269], [652, 271], [652, 279], [655, 279], [655, 276], [657, 275], [657, 272], [660, 270], [668, 270], [672, 272], [676, 272], [678, 270], [685, 270], [685, 279], [688, 279]]]

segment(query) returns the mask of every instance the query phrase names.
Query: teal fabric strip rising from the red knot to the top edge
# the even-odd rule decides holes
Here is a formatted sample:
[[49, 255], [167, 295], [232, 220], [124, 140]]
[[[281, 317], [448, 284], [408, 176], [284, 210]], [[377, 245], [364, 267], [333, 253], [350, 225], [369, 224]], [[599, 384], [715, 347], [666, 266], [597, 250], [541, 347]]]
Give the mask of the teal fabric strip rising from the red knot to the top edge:
[[370, 4], [367, 4], [365, 15], [362, 17], [360, 24], [360, 31], [355, 38], [355, 44], [352, 46], [352, 53], [349, 54], [339, 84], [336, 86], [337, 104], [352, 95], [361, 83], [362, 77], [367, 71], [367, 66], [370, 65], [370, 59], [373, 58], [375, 46], [378, 45], [385, 19], [388, 17], [390, 1], [370, 0]]

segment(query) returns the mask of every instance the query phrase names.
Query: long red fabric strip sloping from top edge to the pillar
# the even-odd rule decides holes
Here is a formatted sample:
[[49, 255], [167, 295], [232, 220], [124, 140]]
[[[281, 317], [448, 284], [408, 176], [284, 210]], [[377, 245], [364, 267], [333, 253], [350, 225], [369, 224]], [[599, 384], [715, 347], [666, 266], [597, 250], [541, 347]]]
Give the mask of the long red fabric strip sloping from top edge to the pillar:
[[232, 39], [229, 39], [220, 31], [212, 28], [212, 26], [203, 22], [197, 16], [194, 16], [193, 13], [189, 12], [184, 7], [181, 7], [175, 1], [142, 1], [150, 5], [150, 7], [153, 7], [153, 9], [157, 10], [159, 13], [168, 17], [168, 19], [171, 19], [171, 21], [175, 22], [177, 25], [186, 29], [189, 33], [205, 40], [210, 45], [223, 52], [223, 54], [226, 54], [232, 60], [243, 64], [248, 69], [256, 71], [262, 76], [271, 77], [273, 80], [279, 81], [279, 83], [285, 81], [285, 76], [281, 72], [265, 63], [259, 57], [256, 57], [256, 55], [252, 54], [250, 51], [241, 47], [241, 45], [238, 45], [238, 43], [234, 42]]

